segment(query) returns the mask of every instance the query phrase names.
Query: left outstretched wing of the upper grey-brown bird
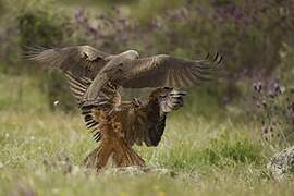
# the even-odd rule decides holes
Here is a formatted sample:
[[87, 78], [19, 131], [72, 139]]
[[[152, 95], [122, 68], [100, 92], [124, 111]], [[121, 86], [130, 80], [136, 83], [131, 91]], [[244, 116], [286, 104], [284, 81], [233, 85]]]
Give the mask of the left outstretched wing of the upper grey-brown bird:
[[85, 45], [53, 49], [32, 48], [27, 52], [27, 58], [47, 68], [68, 71], [76, 76], [94, 79], [111, 59], [111, 54]]

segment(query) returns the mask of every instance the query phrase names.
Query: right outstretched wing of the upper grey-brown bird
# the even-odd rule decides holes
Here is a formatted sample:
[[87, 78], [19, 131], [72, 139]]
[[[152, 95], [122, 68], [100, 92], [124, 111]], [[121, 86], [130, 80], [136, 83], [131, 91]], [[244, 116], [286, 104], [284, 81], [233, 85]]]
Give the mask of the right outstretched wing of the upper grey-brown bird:
[[167, 54], [130, 60], [124, 63], [124, 79], [121, 85], [128, 88], [195, 86], [199, 82], [211, 81], [211, 76], [221, 69], [221, 61], [219, 53], [198, 61]]

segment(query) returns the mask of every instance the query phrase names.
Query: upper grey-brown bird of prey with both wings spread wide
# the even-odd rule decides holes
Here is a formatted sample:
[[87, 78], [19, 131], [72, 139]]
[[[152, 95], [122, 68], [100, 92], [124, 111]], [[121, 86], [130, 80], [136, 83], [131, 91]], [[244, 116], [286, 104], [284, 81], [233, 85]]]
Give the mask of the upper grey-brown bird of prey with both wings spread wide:
[[93, 79], [81, 99], [83, 105], [91, 105], [108, 83], [126, 88], [195, 86], [210, 81], [222, 61], [219, 53], [194, 61], [169, 54], [139, 58], [135, 50], [110, 54], [90, 46], [35, 50], [29, 57], [50, 68]]

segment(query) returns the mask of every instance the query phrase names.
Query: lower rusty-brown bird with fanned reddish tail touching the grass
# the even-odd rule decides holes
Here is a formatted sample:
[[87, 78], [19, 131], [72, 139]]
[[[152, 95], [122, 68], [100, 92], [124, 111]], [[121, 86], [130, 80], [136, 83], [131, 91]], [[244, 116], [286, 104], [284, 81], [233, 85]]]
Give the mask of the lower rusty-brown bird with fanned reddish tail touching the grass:
[[[65, 73], [74, 97], [79, 101], [91, 81]], [[157, 146], [166, 127], [167, 114], [183, 106], [185, 93], [161, 87], [145, 102], [122, 101], [118, 87], [107, 84], [91, 106], [82, 106], [86, 125], [100, 145], [85, 159], [87, 167], [100, 170], [110, 158], [117, 167], [144, 167], [132, 149], [134, 144]]]

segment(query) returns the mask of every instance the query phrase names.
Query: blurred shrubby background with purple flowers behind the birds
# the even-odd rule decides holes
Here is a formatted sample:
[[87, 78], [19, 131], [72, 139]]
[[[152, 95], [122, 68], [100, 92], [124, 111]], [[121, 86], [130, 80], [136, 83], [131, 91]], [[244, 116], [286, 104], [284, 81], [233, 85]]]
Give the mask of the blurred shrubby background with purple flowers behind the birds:
[[[293, 10], [292, 0], [0, 0], [0, 110], [76, 113], [61, 74], [24, 60], [28, 47], [90, 45], [189, 59], [219, 51], [226, 76], [188, 89], [191, 115], [246, 122], [257, 114], [264, 125], [272, 108], [258, 114], [256, 106], [271, 87], [292, 85]], [[268, 91], [256, 97], [254, 88]]]

